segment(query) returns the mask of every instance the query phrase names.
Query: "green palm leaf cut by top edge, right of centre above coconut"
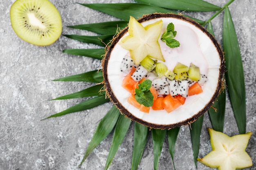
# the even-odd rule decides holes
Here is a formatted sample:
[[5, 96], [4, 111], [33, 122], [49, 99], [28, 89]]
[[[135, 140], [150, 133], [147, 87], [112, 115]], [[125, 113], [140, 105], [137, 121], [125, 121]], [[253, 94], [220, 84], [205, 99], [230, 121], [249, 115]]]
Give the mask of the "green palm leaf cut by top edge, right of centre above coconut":
[[157, 7], [184, 11], [217, 11], [220, 7], [203, 0], [136, 0]]

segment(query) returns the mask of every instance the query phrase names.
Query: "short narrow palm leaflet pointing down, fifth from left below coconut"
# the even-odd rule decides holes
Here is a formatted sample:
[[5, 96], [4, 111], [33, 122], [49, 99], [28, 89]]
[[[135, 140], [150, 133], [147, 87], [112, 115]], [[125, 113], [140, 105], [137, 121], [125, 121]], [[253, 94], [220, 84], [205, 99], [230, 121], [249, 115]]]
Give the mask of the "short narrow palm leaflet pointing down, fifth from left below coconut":
[[176, 127], [176, 128], [173, 128], [173, 129], [170, 129], [167, 131], [169, 152], [170, 152], [172, 160], [173, 160], [174, 169], [175, 169], [175, 165], [174, 165], [175, 143], [176, 143], [179, 131], [180, 131], [180, 127]]

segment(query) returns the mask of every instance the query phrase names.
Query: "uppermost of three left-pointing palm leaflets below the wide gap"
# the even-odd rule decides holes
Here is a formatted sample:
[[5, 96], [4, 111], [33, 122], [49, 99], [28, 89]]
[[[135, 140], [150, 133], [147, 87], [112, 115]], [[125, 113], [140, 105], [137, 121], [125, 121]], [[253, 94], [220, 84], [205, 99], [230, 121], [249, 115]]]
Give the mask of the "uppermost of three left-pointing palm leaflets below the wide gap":
[[91, 83], [101, 83], [103, 81], [103, 75], [102, 70], [92, 70], [90, 72], [85, 72], [82, 74], [58, 78], [53, 81], [83, 81]]

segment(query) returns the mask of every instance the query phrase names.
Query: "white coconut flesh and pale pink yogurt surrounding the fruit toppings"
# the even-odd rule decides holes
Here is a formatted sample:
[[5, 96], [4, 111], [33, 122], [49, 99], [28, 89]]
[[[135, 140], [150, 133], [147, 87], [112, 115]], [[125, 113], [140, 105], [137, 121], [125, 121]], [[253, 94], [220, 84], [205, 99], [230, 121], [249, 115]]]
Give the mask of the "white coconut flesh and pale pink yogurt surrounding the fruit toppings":
[[[170, 113], [167, 113], [165, 110], [153, 109], [150, 109], [149, 113], [144, 113], [133, 105], [130, 105], [127, 102], [130, 92], [121, 86], [126, 76], [126, 74], [120, 71], [121, 61], [125, 55], [129, 55], [129, 51], [119, 45], [122, 38], [110, 49], [111, 52], [109, 53], [107, 70], [104, 70], [104, 72], [107, 71], [108, 84], [112, 90], [112, 94], [115, 95], [117, 101], [124, 107], [119, 109], [121, 109], [121, 111], [126, 109], [130, 114], [128, 117], [135, 118], [135, 120], [139, 120], [140, 123], [147, 126], [152, 124], [153, 128], [162, 128], [165, 125], [166, 127], [174, 127], [172, 126], [173, 124], [188, 124], [189, 121], [186, 121], [193, 121], [193, 117], [197, 113], [202, 112], [206, 105], [209, 105], [209, 102], [212, 104], [214, 101], [212, 101], [212, 98], [216, 98], [216, 94], [219, 92], [220, 76], [222, 77], [220, 70], [223, 65], [221, 59], [223, 56], [220, 57], [222, 52], [220, 54], [220, 47], [218, 44], [213, 43], [213, 37], [210, 38], [201, 29], [186, 20], [173, 17], [160, 17], [141, 22], [141, 24], [146, 26], [158, 20], [163, 21], [162, 33], [166, 30], [167, 25], [172, 22], [175, 26], [175, 31], [177, 31], [175, 39], [180, 42], [180, 47], [170, 48], [159, 38], [159, 44], [166, 66], [169, 70], [173, 70], [177, 62], [187, 66], [189, 66], [190, 63], [197, 65], [200, 68], [200, 73], [208, 77], [208, 81], [202, 86], [203, 92], [201, 94], [187, 97], [184, 105], [181, 105]], [[128, 32], [122, 37], [126, 35], [128, 35]], [[111, 97], [113, 96], [110, 96], [110, 98]]]

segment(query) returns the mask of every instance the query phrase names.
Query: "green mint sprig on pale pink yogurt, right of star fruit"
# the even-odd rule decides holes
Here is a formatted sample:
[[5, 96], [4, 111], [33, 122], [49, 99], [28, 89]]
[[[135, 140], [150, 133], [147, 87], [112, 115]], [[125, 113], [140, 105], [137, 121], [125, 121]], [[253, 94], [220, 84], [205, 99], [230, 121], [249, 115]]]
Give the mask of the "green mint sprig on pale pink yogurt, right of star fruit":
[[180, 46], [180, 42], [173, 39], [177, 35], [177, 31], [174, 31], [174, 24], [171, 22], [168, 24], [166, 31], [164, 31], [161, 40], [166, 42], [166, 45], [175, 48]]

